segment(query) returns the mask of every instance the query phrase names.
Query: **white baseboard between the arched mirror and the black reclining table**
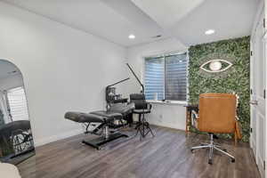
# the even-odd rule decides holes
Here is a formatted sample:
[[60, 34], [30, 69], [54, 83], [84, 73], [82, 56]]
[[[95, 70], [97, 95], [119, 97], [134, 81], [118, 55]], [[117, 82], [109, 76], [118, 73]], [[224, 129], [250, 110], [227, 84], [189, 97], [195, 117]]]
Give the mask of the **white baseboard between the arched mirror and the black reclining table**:
[[41, 139], [39, 141], [35, 141], [35, 147], [39, 147], [39, 146], [42, 146], [42, 145], [50, 143], [50, 142], [60, 141], [62, 139], [66, 139], [66, 138], [69, 138], [69, 137], [77, 135], [77, 134], [83, 134], [83, 130], [77, 129], [77, 130], [72, 130], [72, 131], [69, 131], [66, 133], [46, 137], [46, 138]]

